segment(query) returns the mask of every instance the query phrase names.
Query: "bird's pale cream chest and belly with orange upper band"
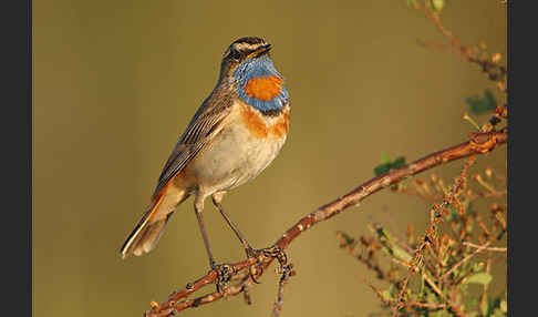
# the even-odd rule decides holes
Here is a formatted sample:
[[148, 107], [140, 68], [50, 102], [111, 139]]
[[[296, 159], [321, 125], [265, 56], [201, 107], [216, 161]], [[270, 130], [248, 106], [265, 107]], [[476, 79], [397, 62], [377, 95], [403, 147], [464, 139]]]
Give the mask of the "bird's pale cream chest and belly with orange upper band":
[[279, 115], [266, 116], [237, 103], [228, 123], [195, 164], [200, 166], [194, 171], [197, 178], [223, 191], [256, 177], [280, 152], [288, 129], [288, 106]]

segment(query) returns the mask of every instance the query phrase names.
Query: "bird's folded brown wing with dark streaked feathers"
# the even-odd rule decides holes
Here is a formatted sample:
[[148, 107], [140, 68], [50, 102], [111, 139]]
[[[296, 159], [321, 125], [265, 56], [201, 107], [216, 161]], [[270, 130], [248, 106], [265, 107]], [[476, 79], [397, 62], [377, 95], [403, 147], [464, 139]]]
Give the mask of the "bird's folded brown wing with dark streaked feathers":
[[204, 102], [166, 161], [154, 196], [210, 142], [211, 136], [220, 130], [223, 121], [230, 113], [231, 104], [232, 100], [227, 95], [211, 95]]

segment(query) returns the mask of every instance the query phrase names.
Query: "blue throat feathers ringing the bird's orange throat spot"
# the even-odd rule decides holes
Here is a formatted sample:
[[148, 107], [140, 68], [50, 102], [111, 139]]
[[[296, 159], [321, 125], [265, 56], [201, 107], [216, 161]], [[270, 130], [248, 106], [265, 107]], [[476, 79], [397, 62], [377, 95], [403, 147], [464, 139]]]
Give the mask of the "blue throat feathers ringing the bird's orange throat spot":
[[281, 91], [271, 100], [259, 100], [245, 92], [245, 88], [251, 79], [278, 76], [283, 81], [282, 75], [275, 69], [269, 57], [252, 58], [244, 61], [234, 72], [234, 80], [237, 84], [237, 94], [251, 106], [261, 112], [278, 111], [288, 102], [289, 94], [283, 85]]

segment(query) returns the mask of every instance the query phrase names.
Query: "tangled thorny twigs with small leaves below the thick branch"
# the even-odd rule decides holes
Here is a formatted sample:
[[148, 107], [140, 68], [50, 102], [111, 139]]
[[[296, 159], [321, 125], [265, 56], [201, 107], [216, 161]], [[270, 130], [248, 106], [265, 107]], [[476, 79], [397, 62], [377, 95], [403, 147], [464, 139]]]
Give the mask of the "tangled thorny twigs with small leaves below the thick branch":
[[[390, 260], [403, 266], [407, 270], [405, 278], [400, 280], [399, 278], [395, 278], [394, 275], [387, 276], [385, 274], [379, 274], [379, 272], [383, 273], [384, 270], [375, 262], [375, 254], [381, 249], [381, 247], [377, 245], [380, 245], [380, 243], [383, 244], [383, 241], [389, 234], [385, 229], [383, 229], [382, 226], [375, 225], [376, 229], [371, 228], [373, 233], [377, 234], [377, 238], [369, 238], [365, 236], [360, 237], [360, 242], [365, 242], [362, 243], [361, 246], [362, 253], [366, 252], [368, 257], [355, 257], [361, 263], [365, 264], [368, 268], [377, 273], [377, 279], [385, 280], [391, 285], [392, 290], [389, 290], [389, 293], [382, 293], [372, 284], [368, 283], [368, 285], [370, 285], [370, 287], [377, 294], [381, 301], [386, 305], [386, 308], [392, 311], [393, 316], [400, 316], [402, 314], [404, 316], [415, 316], [410, 315], [410, 311], [414, 311], [415, 314], [422, 316], [421, 311], [424, 311], [424, 309], [448, 309], [456, 316], [466, 316], [465, 306], [461, 303], [461, 294], [457, 292], [457, 287], [472, 274], [472, 270], [468, 269], [469, 266], [467, 263], [478, 253], [500, 252], [505, 254], [504, 256], [506, 256], [506, 247], [489, 247], [493, 242], [500, 239], [500, 235], [496, 235], [497, 231], [506, 231], [506, 222], [503, 222], [504, 218], [501, 216], [505, 211], [498, 204], [493, 205], [490, 213], [495, 224], [492, 229], [488, 229], [482, 217], [475, 212], [468, 209], [467, 204], [469, 203], [472, 191], [466, 188], [466, 186], [468, 186], [466, 175], [467, 170], [474, 162], [474, 158], [475, 157], [472, 156], [470, 160], [464, 165], [459, 177], [455, 181], [455, 185], [445, 193], [443, 204], [434, 205], [432, 208], [431, 226], [428, 229], [426, 229], [424, 238], [418, 241], [420, 244], [416, 246], [414, 257], [406, 259], [406, 256], [410, 256], [408, 254], [415, 250], [411, 247], [416, 242], [413, 236], [414, 227], [412, 225], [410, 225], [407, 228], [407, 242], [399, 241], [395, 237], [390, 238], [390, 244], [386, 245], [390, 250]], [[486, 170], [486, 175], [488, 178], [493, 176], [490, 168]], [[476, 178], [475, 175], [470, 176], [470, 180], [474, 178]], [[437, 183], [441, 182], [442, 178], [437, 178], [435, 176], [433, 177], [433, 181], [434, 183]], [[449, 205], [453, 207], [453, 213], [451, 216], [446, 211]], [[458, 218], [454, 218], [456, 215]], [[487, 238], [487, 243], [477, 245], [468, 241], [461, 241], [457, 238], [461, 237], [461, 233], [468, 232], [467, 223], [470, 218], [475, 219], [475, 222], [478, 224], [477, 228], [482, 229], [483, 232], [483, 235], [478, 236], [478, 238], [482, 238], [480, 241]], [[459, 225], [456, 231], [453, 231], [454, 237], [451, 237], [447, 234], [439, 236], [436, 233], [436, 227], [441, 224], [441, 222], [448, 222], [451, 228], [453, 229], [455, 228], [454, 226], [457, 226], [458, 224], [465, 225]], [[358, 245], [355, 238], [343, 232], [339, 232], [338, 235], [342, 239], [340, 247], [346, 248], [348, 253], [353, 255], [353, 250]], [[467, 239], [470, 236], [467, 235], [465, 238]], [[461, 241], [461, 243], [458, 243], [458, 241]], [[474, 249], [464, 250], [465, 247], [463, 246]], [[397, 250], [396, 247], [402, 247], [403, 253]], [[407, 255], [406, 252], [408, 253]], [[451, 260], [448, 260], [446, 257], [448, 255]], [[463, 257], [457, 262], [454, 262], [453, 259], [455, 259], [458, 255], [462, 255]], [[493, 262], [494, 260], [492, 258], [488, 258], [486, 274], [489, 274]], [[467, 268], [459, 270], [459, 268], [464, 265], [467, 265]], [[447, 269], [447, 272], [445, 272], [445, 269]], [[415, 293], [407, 292], [406, 288], [410, 279], [417, 272], [421, 272], [421, 279], [430, 287], [431, 292], [436, 294], [437, 299], [433, 300], [432, 298], [428, 298], [424, 295], [423, 290], [416, 290]], [[489, 305], [485, 299], [487, 290], [488, 287], [486, 283], [484, 285], [484, 292], [480, 300], [480, 309], [485, 309], [483, 307]], [[418, 305], [416, 305], [417, 303]], [[426, 305], [422, 305], [424, 303]]]

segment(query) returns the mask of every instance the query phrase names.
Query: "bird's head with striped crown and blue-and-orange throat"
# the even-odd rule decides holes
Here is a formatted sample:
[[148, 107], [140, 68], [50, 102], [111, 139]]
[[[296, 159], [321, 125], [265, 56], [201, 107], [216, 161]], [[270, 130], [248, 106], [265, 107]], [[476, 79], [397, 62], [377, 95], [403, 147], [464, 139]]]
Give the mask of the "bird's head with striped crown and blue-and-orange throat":
[[220, 69], [220, 81], [262, 112], [280, 110], [288, 102], [283, 78], [275, 69], [270, 50], [271, 44], [261, 38], [238, 39], [226, 49]]

